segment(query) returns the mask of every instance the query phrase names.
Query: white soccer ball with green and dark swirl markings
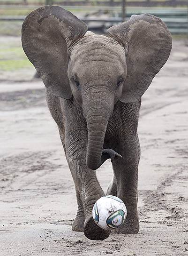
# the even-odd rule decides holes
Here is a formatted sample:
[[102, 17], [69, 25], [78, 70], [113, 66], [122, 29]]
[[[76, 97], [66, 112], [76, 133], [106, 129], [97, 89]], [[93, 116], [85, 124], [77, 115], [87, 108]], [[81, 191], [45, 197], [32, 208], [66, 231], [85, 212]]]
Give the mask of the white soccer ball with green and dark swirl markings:
[[103, 196], [93, 206], [95, 223], [105, 230], [119, 228], [127, 217], [127, 208], [117, 196]]

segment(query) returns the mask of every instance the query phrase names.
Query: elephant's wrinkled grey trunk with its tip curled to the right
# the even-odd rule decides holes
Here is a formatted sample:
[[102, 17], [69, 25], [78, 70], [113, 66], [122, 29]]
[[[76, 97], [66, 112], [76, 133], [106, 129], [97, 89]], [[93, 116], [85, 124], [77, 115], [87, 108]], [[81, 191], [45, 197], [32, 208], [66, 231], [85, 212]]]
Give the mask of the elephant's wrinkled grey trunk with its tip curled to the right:
[[86, 164], [87, 167], [96, 170], [108, 158], [112, 160], [115, 156], [120, 156], [112, 149], [103, 149], [106, 128], [113, 112], [113, 96], [106, 91], [94, 92], [89, 90], [83, 101], [83, 113], [87, 121], [88, 147]]

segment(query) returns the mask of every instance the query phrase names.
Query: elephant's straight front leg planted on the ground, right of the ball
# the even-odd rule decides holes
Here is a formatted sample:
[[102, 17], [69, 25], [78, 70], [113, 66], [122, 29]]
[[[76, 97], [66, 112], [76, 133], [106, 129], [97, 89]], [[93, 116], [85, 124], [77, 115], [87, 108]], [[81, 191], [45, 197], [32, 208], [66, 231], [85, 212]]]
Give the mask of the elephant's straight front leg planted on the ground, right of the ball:
[[[118, 233], [132, 234], [139, 231], [138, 202], [138, 163], [140, 145], [138, 136], [124, 136], [120, 143], [122, 159], [113, 162], [113, 170], [117, 181], [117, 196], [127, 207], [125, 223], [116, 230]], [[118, 151], [117, 151], [118, 152]]]

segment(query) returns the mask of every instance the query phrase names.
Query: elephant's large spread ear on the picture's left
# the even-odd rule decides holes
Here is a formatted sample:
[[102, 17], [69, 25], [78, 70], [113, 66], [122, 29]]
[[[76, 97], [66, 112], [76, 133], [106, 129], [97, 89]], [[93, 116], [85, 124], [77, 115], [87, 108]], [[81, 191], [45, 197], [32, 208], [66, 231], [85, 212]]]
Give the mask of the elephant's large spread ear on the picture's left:
[[22, 45], [48, 91], [69, 99], [68, 48], [87, 31], [87, 25], [59, 6], [31, 12], [23, 22]]

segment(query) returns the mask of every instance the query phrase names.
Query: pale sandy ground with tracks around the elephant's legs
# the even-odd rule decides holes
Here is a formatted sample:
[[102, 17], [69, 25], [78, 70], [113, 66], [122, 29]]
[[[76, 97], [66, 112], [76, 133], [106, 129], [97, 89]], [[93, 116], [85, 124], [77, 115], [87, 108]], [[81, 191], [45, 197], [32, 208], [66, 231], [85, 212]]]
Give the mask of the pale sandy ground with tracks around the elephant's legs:
[[[73, 232], [75, 189], [41, 81], [0, 83], [0, 255], [188, 255], [188, 47], [140, 111], [140, 232], [91, 241]], [[98, 171], [106, 190], [110, 162]]]

